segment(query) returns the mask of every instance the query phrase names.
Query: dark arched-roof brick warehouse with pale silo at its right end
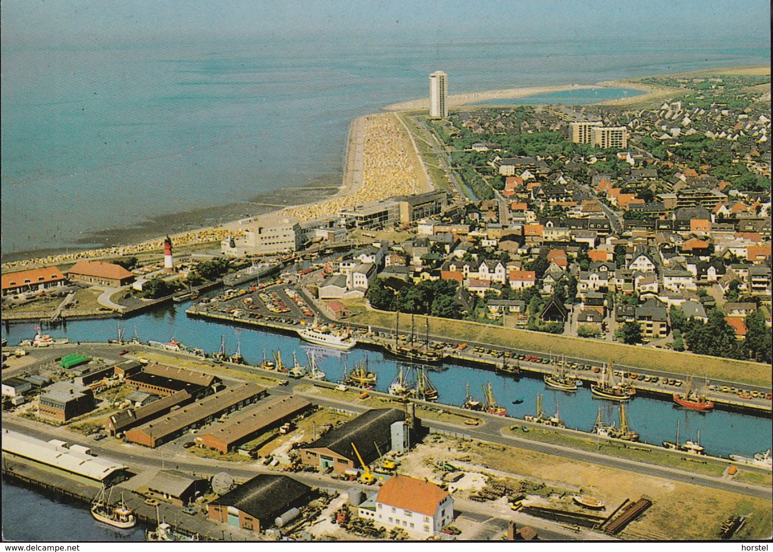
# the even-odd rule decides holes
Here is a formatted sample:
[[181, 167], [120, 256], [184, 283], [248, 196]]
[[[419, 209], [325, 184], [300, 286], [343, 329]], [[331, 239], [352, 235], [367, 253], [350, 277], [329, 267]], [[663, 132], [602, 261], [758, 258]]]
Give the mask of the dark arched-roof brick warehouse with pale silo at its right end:
[[416, 417], [406, 416], [396, 408], [375, 409], [301, 448], [301, 462], [322, 470], [332, 468], [334, 473], [342, 474], [362, 467], [352, 443], [363, 462], [370, 464], [388, 451], [407, 451], [422, 435], [421, 421]]

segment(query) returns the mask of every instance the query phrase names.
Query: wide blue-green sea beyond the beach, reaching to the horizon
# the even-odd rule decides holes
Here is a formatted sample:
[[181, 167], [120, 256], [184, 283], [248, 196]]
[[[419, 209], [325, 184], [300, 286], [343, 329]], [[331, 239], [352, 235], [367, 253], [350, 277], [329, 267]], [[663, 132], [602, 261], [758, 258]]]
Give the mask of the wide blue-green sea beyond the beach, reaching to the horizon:
[[4, 41], [2, 250], [73, 247], [154, 216], [337, 186], [349, 121], [425, 96], [434, 70], [457, 94], [768, 61], [765, 39]]

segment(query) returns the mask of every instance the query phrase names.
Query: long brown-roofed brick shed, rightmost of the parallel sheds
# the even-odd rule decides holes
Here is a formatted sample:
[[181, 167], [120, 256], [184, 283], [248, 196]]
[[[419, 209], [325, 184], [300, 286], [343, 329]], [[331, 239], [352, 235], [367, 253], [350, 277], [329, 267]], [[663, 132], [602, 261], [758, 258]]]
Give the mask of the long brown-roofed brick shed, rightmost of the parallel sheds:
[[226, 421], [212, 424], [212, 428], [205, 434], [196, 437], [196, 445], [226, 454], [258, 434], [277, 428], [311, 408], [312, 403], [301, 397], [261, 400]]

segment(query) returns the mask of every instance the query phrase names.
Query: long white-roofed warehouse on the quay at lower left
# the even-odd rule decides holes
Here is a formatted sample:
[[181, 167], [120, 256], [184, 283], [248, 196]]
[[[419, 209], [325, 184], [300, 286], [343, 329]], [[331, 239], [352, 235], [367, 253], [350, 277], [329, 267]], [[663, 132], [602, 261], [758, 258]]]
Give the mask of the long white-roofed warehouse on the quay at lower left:
[[127, 466], [104, 456], [96, 456], [83, 445], [70, 445], [59, 439], [40, 441], [6, 429], [2, 432], [2, 451], [106, 486], [128, 479]]

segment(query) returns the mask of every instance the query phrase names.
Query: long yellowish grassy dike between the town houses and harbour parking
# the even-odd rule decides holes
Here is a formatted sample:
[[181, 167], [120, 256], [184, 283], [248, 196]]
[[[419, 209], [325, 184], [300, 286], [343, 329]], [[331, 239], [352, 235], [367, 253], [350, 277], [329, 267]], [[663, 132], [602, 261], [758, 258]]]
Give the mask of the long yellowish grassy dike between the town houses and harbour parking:
[[[393, 312], [366, 310], [352, 316], [350, 321], [380, 328], [394, 328], [395, 315]], [[424, 329], [424, 317], [421, 317], [421, 321], [417, 324]], [[410, 315], [400, 316], [400, 326], [410, 327]], [[512, 347], [541, 353], [550, 352], [553, 355], [579, 356], [597, 362], [611, 360], [616, 366], [628, 366], [638, 370], [663, 370], [699, 378], [709, 377], [749, 385], [771, 386], [771, 366], [743, 360], [677, 353], [666, 349], [644, 348], [434, 317], [430, 317], [430, 333], [438, 338], [448, 336], [461, 341], [485, 343], [492, 347]]]

